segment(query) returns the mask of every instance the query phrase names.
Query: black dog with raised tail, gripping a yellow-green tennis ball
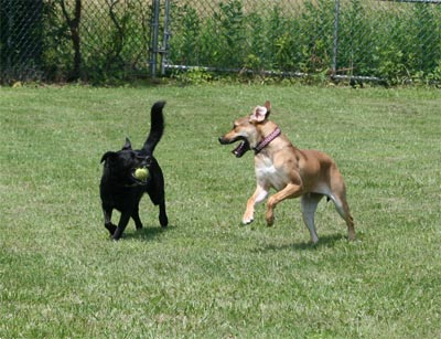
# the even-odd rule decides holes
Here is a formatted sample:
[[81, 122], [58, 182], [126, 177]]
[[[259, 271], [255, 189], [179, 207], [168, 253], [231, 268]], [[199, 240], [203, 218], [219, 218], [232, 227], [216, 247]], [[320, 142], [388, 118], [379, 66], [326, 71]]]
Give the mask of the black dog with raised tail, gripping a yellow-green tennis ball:
[[[130, 218], [137, 230], [142, 227], [139, 218], [139, 202], [143, 193], [148, 193], [153, 204], [159, 205], [159, 222], [162, 227], [169, 223], [165, 213], [164, 177], [153, 157], [154, 147], [164, 131], [162, 108], [165, 102], [158, 102], [151, 108], [150, 134], [141, 149], [133, 150], [129, 139], [119, 151], [108, 151], [103, 158], [104, 171], [99, 192], [101, 197], [105, 226], [114, 240], [119, 240]], [[137, 169], [148, 169], [147, 179], [138, 179]], [[139, 177], [139, 176], [138, 176]], [[111, 223], [111, 212], [121, 212], [118, 226]]]

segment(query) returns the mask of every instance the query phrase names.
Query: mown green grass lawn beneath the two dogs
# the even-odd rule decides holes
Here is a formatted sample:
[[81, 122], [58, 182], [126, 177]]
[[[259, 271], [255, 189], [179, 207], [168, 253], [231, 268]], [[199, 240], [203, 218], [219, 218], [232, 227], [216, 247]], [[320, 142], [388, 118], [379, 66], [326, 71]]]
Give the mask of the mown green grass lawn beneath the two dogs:
[[[170, 226], [141, 203], [111, 242], [99, 163], [155, 156]], [[266, 99], [299, 148], [338, 163], [358, 240], [331, 203], [309, 244], [299, 200], [241, 226], [252, 155], [217, 138]], [[0, 88], [0, 338], [440, 338], [441, 92], [301, 86]], [[118, 218], [116, 213], [114, 218]]]

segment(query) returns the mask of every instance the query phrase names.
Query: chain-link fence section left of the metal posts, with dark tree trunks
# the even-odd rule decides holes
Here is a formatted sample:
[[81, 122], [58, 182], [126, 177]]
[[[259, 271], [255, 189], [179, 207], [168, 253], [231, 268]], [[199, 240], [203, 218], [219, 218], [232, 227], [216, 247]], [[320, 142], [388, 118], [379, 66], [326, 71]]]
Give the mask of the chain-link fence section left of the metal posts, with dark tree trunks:
[[148, 0], [0, 0], [1, 81], [148, 75]]

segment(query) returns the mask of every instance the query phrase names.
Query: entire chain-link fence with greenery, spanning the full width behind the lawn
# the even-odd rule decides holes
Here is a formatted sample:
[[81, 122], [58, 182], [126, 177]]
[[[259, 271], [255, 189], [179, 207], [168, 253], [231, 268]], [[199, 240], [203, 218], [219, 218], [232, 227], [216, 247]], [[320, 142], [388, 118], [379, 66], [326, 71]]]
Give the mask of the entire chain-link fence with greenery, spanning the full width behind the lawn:
[[0, 0], [1, 82], [441, 81], [441, 0]]

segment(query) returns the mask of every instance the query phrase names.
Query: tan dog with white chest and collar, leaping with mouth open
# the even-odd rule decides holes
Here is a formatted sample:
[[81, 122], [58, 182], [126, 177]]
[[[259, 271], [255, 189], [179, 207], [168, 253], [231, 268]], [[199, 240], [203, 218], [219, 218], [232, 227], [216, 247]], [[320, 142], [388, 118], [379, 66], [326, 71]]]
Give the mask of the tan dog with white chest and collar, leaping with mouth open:
[[301, 197], [303, 221], [311, 241], [316, 243], [314, 214], [320, 200], [326, 195], [338, 214], [346, 221], [348, 239], [355, 240], [354, 221], [346, 201], [346, 188], [335, 162], [316, 150], [300, 150], [281, 134], [280, 128], [268, 120], [271, 104], [257, 106], [251, 115], [237, 119], [234, 127], [219, 138], [222, 145], [240, 141], [233, 153], [240, 158], [246, 151], [255, 151], [257, 188], [248, 199], [243, 223], [254, 220], [255, 205], [263, 201], [269, 190], [276, 189], [267, 202], [266, 219], [269, 226], [275, 222], [276, 205], [288, 198]]

